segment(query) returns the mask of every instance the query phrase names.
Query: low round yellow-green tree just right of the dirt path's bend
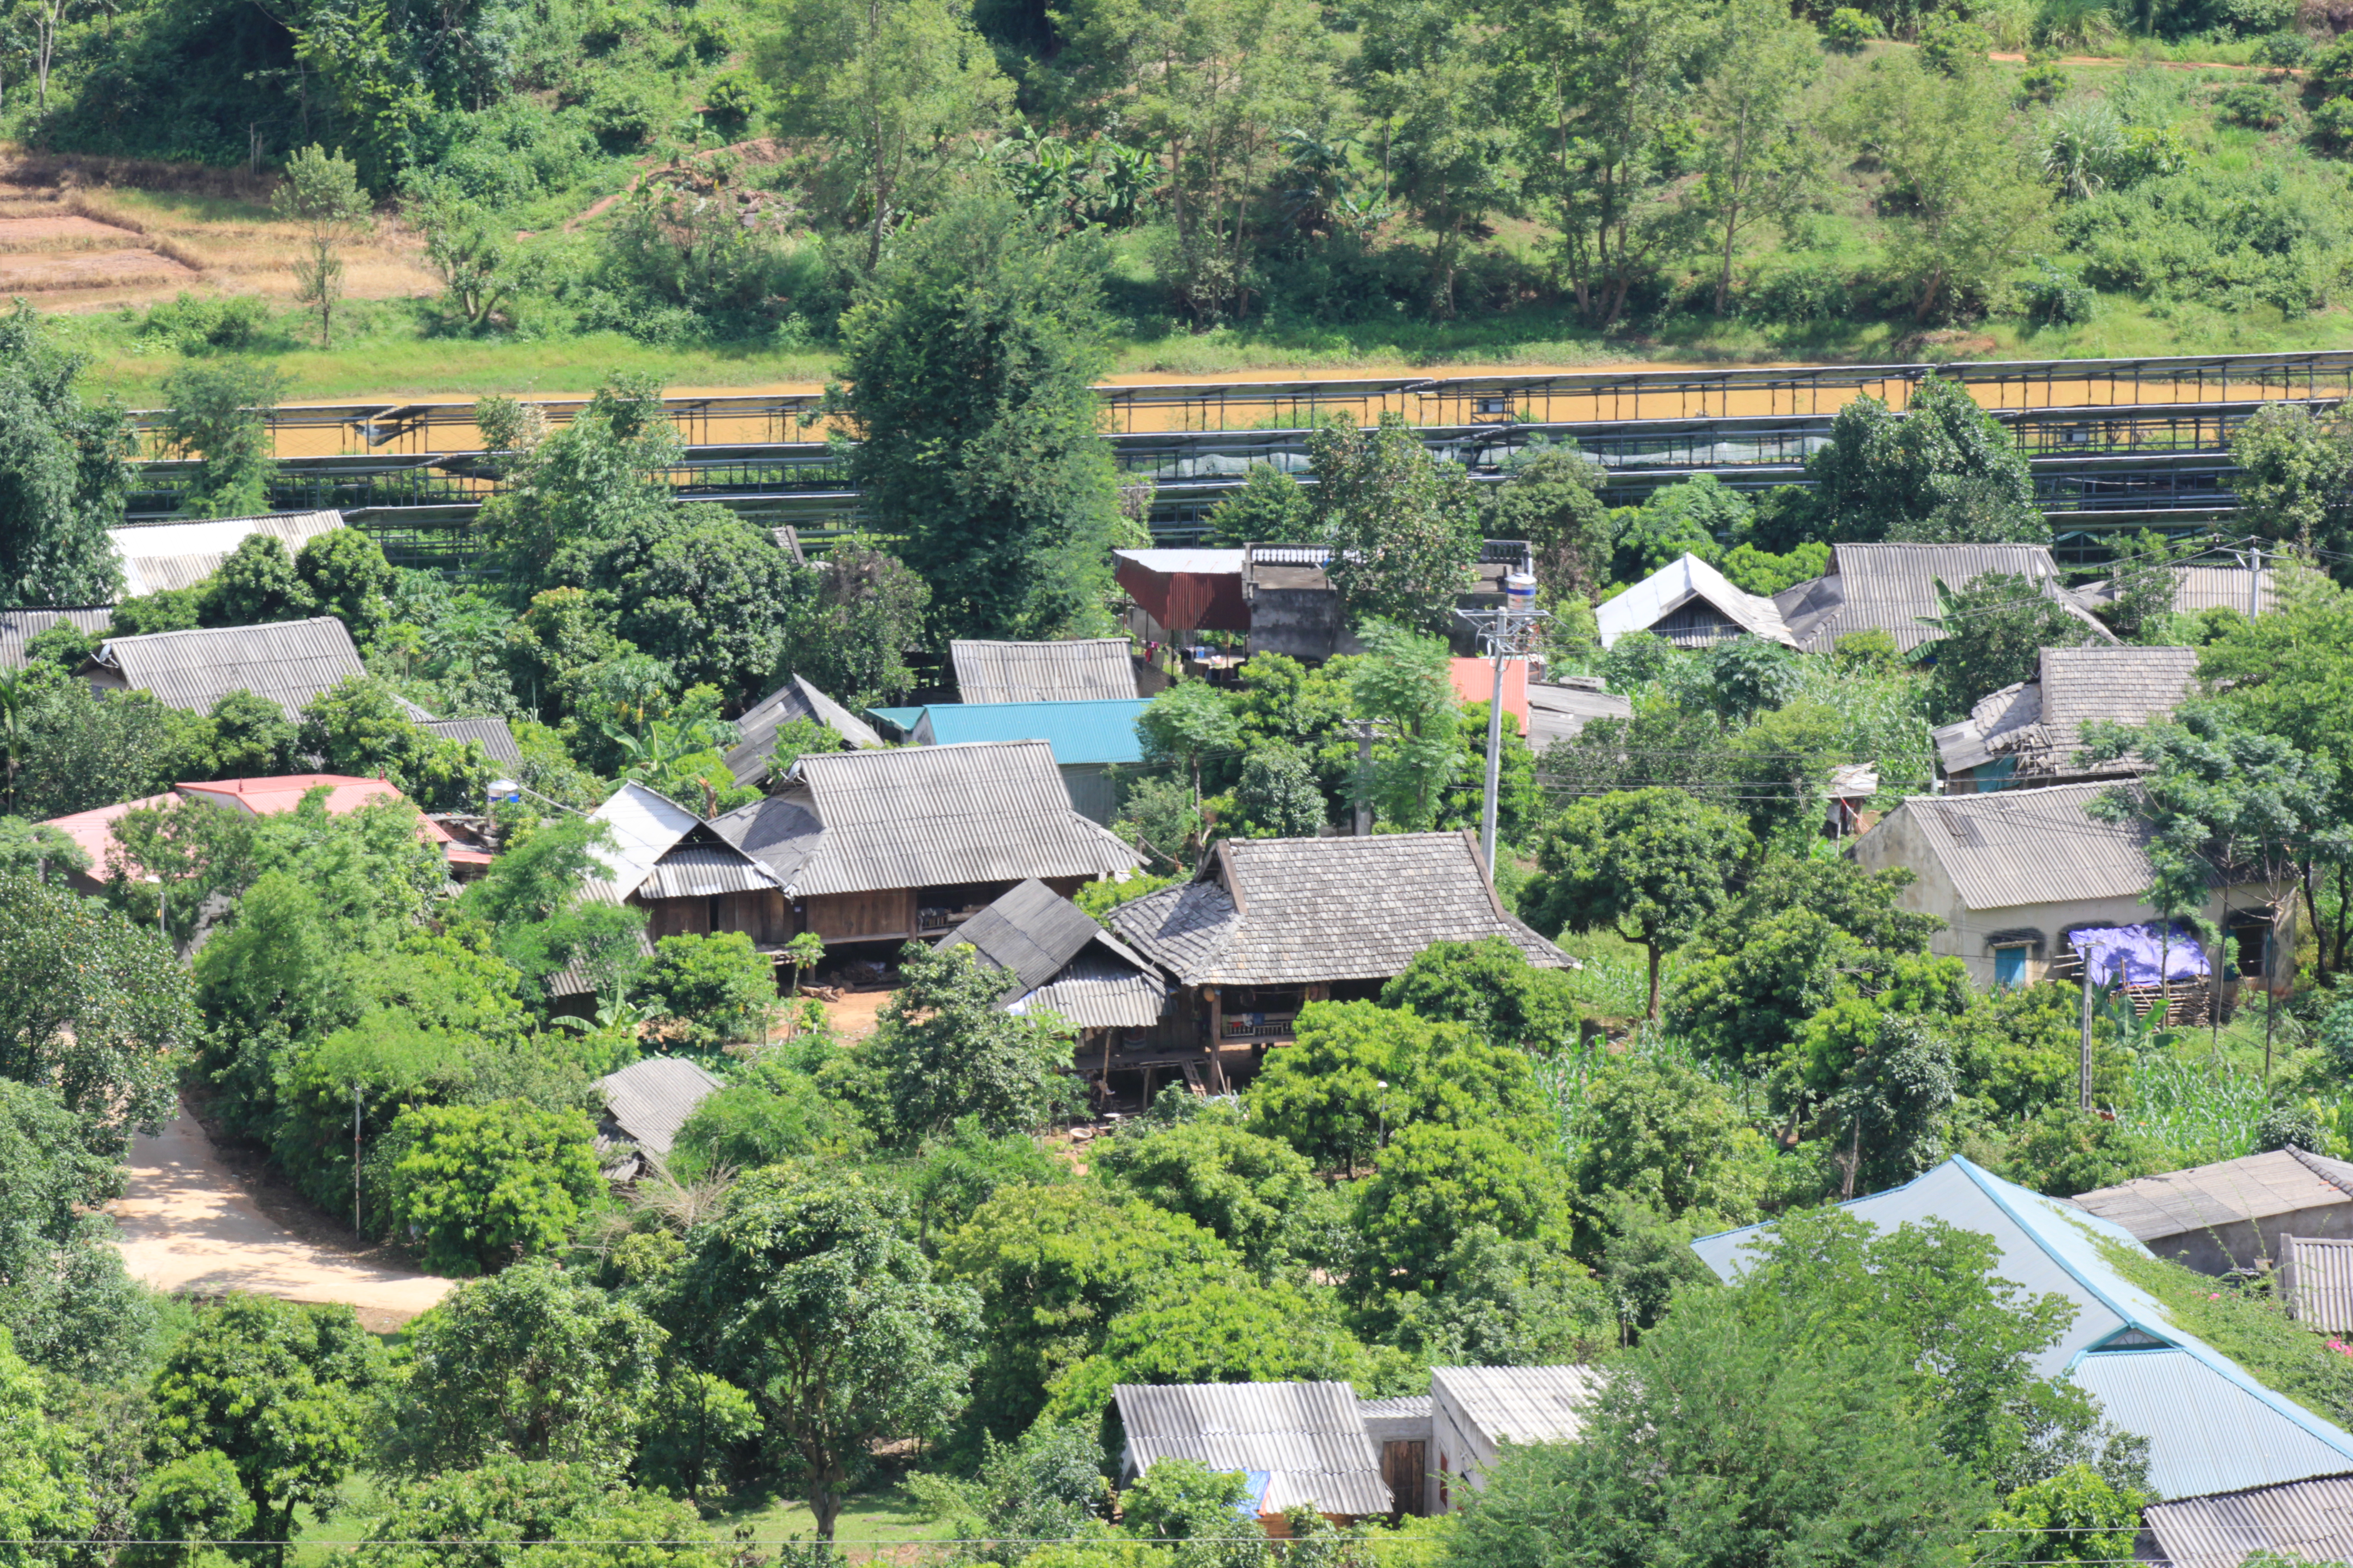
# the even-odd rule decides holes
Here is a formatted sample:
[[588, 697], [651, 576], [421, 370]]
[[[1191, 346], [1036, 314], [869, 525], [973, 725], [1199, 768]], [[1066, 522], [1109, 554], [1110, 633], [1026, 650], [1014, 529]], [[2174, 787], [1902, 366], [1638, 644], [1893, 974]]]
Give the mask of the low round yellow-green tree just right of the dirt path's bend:
[[393, 1222], [438, 1274], [489, 1274], [560, 1241], [602, 1192], [576, 1110], [419, 1105], [393, 1121]]

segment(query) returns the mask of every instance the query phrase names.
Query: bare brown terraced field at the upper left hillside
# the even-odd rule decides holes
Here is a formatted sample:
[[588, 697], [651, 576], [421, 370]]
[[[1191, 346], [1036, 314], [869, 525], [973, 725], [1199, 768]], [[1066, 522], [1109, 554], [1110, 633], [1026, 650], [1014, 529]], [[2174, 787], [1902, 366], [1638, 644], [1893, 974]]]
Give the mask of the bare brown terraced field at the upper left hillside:
[[[0, 296], [42, 310], [191, 294], [294, 299], [299, 233], [268, 181], [235, 172], [0, 153]], [[433, 294], [416, 235], [379, 221], [346, 252], [346, 294]]]

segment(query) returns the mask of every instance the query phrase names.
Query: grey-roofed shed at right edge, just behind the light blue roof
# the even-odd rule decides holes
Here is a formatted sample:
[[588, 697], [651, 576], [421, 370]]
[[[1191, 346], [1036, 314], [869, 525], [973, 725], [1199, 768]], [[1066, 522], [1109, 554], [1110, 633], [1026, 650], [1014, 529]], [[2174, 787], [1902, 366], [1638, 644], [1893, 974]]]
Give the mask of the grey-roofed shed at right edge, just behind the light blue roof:
[[2353, 1164], [2271, 1150], [2141, 1175], [2082, 1192], [2075, 1204], [2122, 1225], [2158, 1258], [2228, 1274], [2282, 1262], [2289, 1237], [2353, 1241]]

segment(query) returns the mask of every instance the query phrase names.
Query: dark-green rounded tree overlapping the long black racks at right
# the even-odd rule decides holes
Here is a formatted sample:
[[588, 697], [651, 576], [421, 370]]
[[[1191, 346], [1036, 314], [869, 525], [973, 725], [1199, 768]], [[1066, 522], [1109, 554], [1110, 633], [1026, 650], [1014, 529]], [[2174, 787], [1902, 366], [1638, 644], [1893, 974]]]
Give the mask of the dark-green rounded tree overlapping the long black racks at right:
[[1868, 395], [1838, 409], [1805, 473], [1833, 541], [2049, 538], [2026, 454], [1944, 376], [1922, 376], [1901, 416]]

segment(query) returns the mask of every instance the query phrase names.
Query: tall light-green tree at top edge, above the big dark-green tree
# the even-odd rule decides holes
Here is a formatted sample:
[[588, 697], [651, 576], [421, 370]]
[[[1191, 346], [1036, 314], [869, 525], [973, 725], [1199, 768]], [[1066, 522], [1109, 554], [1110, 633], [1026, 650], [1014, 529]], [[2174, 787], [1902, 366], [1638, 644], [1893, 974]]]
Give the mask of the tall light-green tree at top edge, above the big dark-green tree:
[[831, 148], [819, 188], [842, 226], [882, 242], [939, 195], [958, 148], [1012, 106], [1012, 82], [951, 0], [795, 0], [755, 61], [786, 136]]

